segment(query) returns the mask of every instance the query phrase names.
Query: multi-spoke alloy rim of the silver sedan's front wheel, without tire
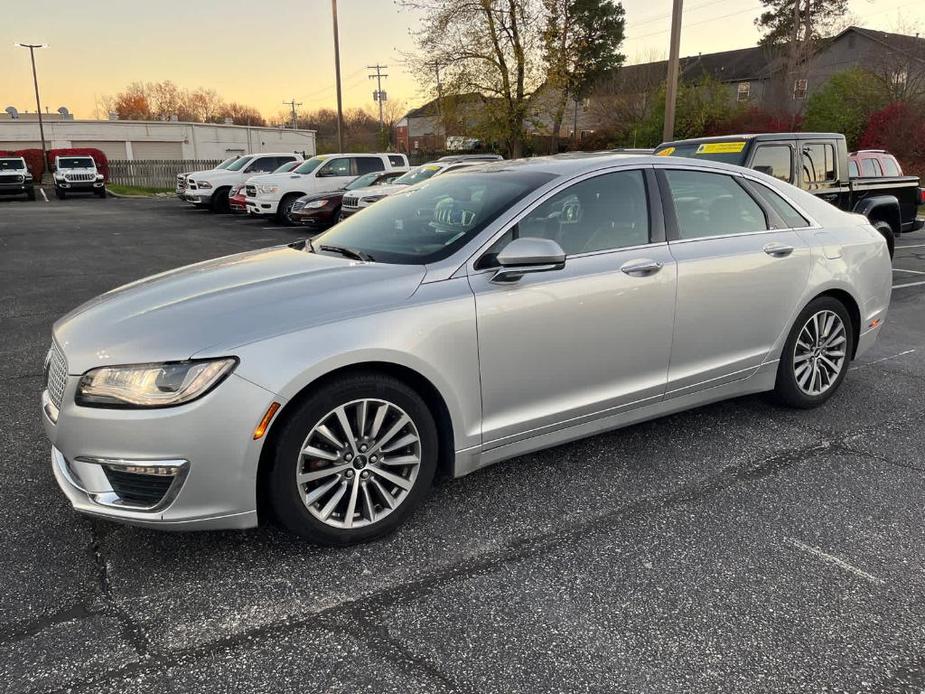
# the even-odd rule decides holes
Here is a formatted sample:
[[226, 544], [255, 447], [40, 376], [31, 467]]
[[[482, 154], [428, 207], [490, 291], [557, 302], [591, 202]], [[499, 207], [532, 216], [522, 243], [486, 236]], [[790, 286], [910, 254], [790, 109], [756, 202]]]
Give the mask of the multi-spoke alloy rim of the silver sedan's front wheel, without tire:
[[358, 528], [401, 505], [420, 465], [421, 437], [403, 409], [386, 400], [354, 400], [312, 427], [295, 481], [302, 503], [318, 520]]

